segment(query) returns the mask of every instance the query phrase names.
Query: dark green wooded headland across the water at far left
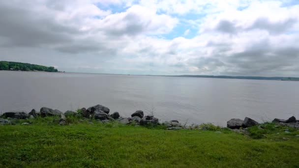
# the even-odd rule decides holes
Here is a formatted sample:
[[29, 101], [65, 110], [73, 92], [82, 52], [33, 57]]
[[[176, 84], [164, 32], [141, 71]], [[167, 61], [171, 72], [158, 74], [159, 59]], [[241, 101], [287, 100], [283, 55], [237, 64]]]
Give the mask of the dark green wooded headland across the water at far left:
[[0, 70], [7, 71], [46, 71], [58, 72], [53, 66], [34, 65], [30, 63], [0, 61]]

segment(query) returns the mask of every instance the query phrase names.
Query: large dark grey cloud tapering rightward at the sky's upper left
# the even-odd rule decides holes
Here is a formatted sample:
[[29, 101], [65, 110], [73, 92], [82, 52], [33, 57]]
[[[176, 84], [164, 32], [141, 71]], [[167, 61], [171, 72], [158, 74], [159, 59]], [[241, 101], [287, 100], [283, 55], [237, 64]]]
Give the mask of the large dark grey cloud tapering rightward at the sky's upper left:
[[70, 34], [78, 33], [74, 28], [59, 25], [47, 17], [38, 18], [36, 13], [19, 7], [0, 4], [0, 16], [0, 36], [8, 39], [3, 44], [6, 47], [67, 42], [72, 39]]

